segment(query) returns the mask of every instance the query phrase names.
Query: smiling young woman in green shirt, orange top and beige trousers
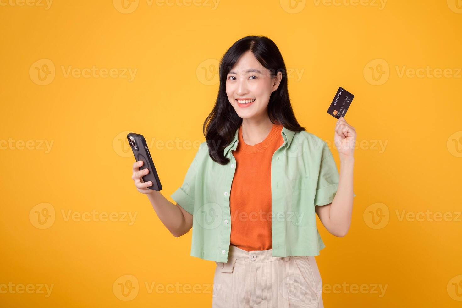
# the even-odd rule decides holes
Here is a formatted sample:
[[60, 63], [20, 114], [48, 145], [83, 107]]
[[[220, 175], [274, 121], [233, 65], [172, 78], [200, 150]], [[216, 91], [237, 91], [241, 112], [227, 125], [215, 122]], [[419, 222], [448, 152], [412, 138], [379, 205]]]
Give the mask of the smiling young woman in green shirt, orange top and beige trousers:
[[284, 60], [265, 36], [235, 42], [219, 77], [176, 205], [146, 188], [142, 162], [135, 186], [174, 236], [193, 228], [192, 256], [216, 262], [213, 308], [323, 307], [316, 214], [334, 236], [350, 228], [355, 129], [335, 124], [339, 174], [327, 143], [298, 124]]

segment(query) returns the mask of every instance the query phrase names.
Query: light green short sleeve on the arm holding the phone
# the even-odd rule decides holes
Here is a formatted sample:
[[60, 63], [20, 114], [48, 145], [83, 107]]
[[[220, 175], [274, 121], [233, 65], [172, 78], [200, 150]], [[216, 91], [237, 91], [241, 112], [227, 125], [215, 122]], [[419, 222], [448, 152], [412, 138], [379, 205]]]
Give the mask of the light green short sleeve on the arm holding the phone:
[[194, 215], [194, 190], [197, 177], [198, 162], [196, 157], [189, 165], [186, 176], [181, 187], [178, 187], [176, 191], [170, 195], [184, 210], [189, 214]]

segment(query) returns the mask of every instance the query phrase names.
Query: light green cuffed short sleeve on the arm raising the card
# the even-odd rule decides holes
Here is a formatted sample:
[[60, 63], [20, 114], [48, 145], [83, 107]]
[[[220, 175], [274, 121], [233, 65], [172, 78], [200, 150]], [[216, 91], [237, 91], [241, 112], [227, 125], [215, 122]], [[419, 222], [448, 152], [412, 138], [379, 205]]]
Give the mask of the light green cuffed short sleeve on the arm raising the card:
[[[319, 175], [317, 180], [315, 205], [327, 205], [332, 203], [337, 188], [339, 186], [339, 171], [335, 164], [334, 156], [330, 151], [327, 143], [323, 141], [321, 163], [319, 165]], [[356, 194], [353, 193], [353, 197]]]

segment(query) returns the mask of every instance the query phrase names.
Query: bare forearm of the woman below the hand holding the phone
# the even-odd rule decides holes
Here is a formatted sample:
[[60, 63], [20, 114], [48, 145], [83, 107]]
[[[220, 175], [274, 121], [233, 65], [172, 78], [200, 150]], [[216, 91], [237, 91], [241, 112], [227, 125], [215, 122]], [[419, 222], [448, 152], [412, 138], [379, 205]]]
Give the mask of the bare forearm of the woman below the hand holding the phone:
[[154, 190], [147, 196], [160, 221], [170, 233], [176, 237], [182, 236], [185, 233], [186, 222], [180, 208], [165, 198], [161, 192]]

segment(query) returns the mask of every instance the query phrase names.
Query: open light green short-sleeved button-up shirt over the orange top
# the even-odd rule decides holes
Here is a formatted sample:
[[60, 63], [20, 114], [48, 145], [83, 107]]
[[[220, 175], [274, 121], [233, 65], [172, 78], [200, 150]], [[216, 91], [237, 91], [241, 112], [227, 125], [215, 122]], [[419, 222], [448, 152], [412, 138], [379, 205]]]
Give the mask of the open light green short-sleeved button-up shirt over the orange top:
[[[230, 192], [236, 171], [231, 150], [230, 162], [221, 165], [208, 155], [207, 142], [201, 143], [183, 184], [172, 195], [193, 215], [191, 256], [227, 262], [231, 235]], [[271, 159], [271, 234], [273, 257], [315, 256], [325, 247], [316, 228], [315, 205], [334, 199], [339, 173], [327, 143], [306, 131], [281, 131], [284, 144]], [[258, 162], [255, 162], [258, 163]], [[356, 194], [353, 194], [356, 196]]]

